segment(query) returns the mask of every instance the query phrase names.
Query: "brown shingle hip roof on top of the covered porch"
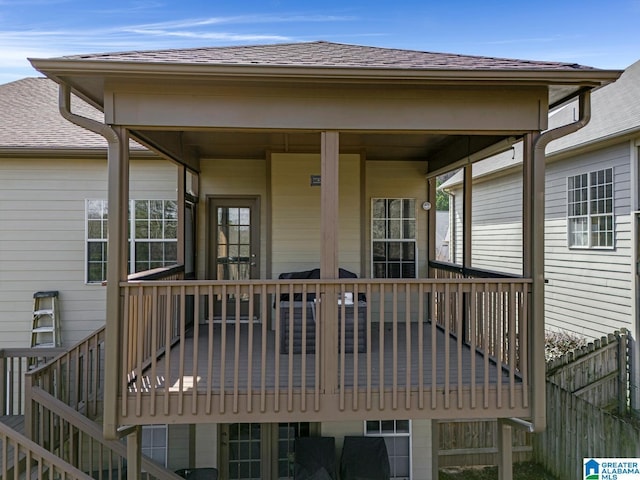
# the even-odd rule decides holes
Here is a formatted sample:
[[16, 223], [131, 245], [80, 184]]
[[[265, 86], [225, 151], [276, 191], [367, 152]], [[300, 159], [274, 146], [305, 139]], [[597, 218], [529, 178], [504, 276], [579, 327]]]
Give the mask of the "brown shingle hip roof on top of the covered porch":
[[70, 60], [290, 67], [391, 68], [432, 70], [593, 70], [575, 63], [422, 52], [395, 48], [305, 42], [99, 53], [61, 57]]

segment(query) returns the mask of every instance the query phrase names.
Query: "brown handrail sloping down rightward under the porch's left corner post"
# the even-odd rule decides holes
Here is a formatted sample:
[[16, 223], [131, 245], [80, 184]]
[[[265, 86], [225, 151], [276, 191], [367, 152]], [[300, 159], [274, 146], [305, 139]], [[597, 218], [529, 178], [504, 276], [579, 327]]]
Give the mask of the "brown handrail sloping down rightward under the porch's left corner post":
[[[123, 459], [127, 458], [127, 447], [122, 442], [118, 440], [106, 440], [102, 435], [102, 427], [100, 425], [78, 413], [68, 405], [65, 405], [42, 388], [34, 386], [31, 399], [47, 408], [72, 427], [77, 428], [83, 434], [91, 437], [92, 440], [111, 450], [119, 457]], [[142, 470], [158, 479], [179, 480], [182, 478], [172, 471], [161, 467], [145, 455], [142, 455], [141, 463]]]

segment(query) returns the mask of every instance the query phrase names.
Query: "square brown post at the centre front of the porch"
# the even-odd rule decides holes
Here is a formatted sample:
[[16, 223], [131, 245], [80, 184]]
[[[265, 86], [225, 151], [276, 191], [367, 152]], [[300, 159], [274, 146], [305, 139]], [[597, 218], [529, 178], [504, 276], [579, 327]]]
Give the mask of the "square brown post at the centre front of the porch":
[[[322, 132], [320, 156], [320, 278], [331, 280], [338, 278], [338, 132]], [[338, 389], [338, 288], [327, 286], [320, 298], [324, 389], [331, 394]]]

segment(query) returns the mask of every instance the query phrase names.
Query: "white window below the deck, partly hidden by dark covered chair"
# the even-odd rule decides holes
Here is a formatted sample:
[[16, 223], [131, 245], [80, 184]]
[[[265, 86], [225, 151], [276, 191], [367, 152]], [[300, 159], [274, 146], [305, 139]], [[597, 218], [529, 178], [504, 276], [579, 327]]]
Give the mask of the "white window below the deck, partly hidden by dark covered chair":
[[411, 421], [367, 420], [365, 435], [383, 437], [389, 455], [391, 478], [411, 478]]

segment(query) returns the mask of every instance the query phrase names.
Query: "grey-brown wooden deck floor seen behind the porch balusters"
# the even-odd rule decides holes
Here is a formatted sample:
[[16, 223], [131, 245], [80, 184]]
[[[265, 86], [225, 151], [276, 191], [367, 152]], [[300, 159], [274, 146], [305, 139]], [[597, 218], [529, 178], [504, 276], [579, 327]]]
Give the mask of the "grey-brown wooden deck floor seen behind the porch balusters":
[[[276, 333], [266, 330], [266, 341], [263, 342], [262, 324], [247, 323], [227, 324], [224, 336], [222, 325], [213, 325], [214, 332], [211, 335], [213, 343], [212, 369], [208, 368], [209, 328], [207, 325], [199, 326], [199, 335], [195, 339], [193, 332], [183, 342], [173, 346], [168, 355], [161, 357], [155, 369], [155, 380], [152, 381], [150, 369], [145, 371], [142, 384], [143, 391], [148, 391], [151, 385], [157, 390], [178, 391], [181, 389], [205, 391], [212, 388], [219, 391], [221, 385], [224, 389], [239, 388], [246, 391], [250, 386], [261, 386], [272, 390], [281, 385], [290, 385], [290, 378], [294, 387], [314, 388], [319, 379], [316, 369], [316, 354], [280, 353], [276, 355]], [[249, 330], [252, 330], [251, 349], [249, 348]], [[392, 387], [394, 371], [396, 378], [402, 378], [405, 384], [417, 387], [420, 383], [427, 386], [444, 387], [463, 384], [508, 384], [510, 373], [508, 369], [499, 367], [492, 359], [482, 353], [472, 352], [471, 348], [449, 335], [448, 338], [441, 328], [432, 328], [431, 323], [422, 325], [423, 351], [418, 350], [420, 336], [417, 323], [411, 323], [409, 328], [404, 322], [397, 323], [395, 327], [385, 324], [381, 347], [381, 337], [378, 324], [371, 326], [370, 350], [363, 353], [339, 353], [339, 375], [344, 375], [345, 387], [366, 385], [371, 382], [373, 388], [384, 385]], [[239, 330], [239, 333], [236, 332]], [[435, 332], [435, 341], [433, 333]], [[409, 340], [407, 341], [407, 335]], [[225, 339], [222, 342], [222, 339]], [[262, 346], [266, 346], [266, 354], [263, 355]], [[398, 348], [394, 351], [394, 343]], [[179, 351], [191, 352], [184, 355], [185, 361], [180, 365], [172, 359], [180, 358]], [[435, 349], [435, 352], [434, 352]], [[251, 352], [251, 355], [250, 355]], [[224, 362], [222, 362], [224, 354]], [[262, 358], [266, 358], [263, 365]], [[472, 358], [475, 357], [475, 358]], [[448, 358], [448, 361], [446, 359]], [[435, 364], [434, 364], [435, 359]], [[224, 369], [221, 365], [224, 363]], [[371, 368], [367, 368], [370, 365]], [[422, 368], [421, 368], [422, 367]], [[370, 370], [371, 378], [367, 378]], [[266, 371], [266, 375], [263, 372]], [[354, 374], [354, 373], [357, 373]], [[422, 377], [422, 382], [420, 378]], [[241, 379], [243, 385], [235, 385], [235, 379]], [[409, 382], [407, 382], [409, 379]], [[516, 383], [520, 382], [515, 374]], [[130, 391], [135, 390], [137, 382], [132, 382]], [[139, 383], [138, 383], [139, 384]]]

